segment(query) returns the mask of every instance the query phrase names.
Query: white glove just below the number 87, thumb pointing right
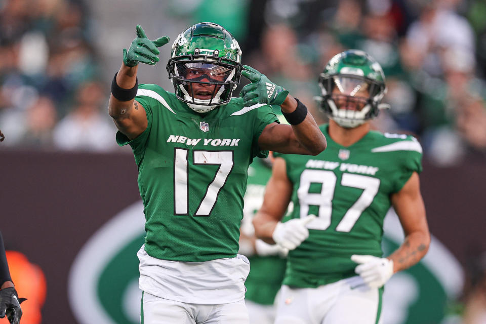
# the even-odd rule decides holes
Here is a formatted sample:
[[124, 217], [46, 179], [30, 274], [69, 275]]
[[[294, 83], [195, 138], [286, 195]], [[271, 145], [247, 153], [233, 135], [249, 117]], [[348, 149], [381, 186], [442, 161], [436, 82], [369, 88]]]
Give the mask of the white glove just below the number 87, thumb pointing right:
[[309, 237], [309, 230], [305, 225], [314, 219], [315, 215], [309, 215], [304, 218], [294, 218], [285, 223], [277, 223], [272, 238], [282, 248], [294, 250]]

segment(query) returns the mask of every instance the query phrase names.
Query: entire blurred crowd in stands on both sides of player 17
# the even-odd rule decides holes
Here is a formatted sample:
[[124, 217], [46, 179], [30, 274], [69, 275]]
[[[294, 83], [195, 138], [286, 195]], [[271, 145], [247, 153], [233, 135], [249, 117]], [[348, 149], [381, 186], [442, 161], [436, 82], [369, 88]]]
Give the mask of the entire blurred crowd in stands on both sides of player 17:
[[[484, 1], [176, 3], [171, 15], [180, 15], [187, 26], [207, 20], [232, 31], [243, 63], [291, 90], [321, 121], [326, 119], [312, 98], [319, 94], [325, 62], [346, 49], [365, 50], [387, 76], [384, 101], [391, 109], [375, 120], [377, 129], [414, 134], [424, 158], [440, 166], [486, 160]], [[101, 68], [102, 56], [94, 50], [100, 40], [92, 30], [90, 2], [0, 4], [2, 147], [115, 149], [115, 128], [106, 113], [106, 80], [113, 71]]]

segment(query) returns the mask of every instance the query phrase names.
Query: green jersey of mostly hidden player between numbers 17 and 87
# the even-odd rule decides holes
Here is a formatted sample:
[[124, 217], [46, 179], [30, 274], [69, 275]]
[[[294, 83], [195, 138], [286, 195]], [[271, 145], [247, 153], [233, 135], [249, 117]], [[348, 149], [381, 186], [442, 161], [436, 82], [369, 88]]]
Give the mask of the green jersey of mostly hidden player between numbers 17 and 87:
[[[245, 222], [241, 230], [245, 233], [246, 227], [249, 234], [253, 230], [251, 220], [263, 204], [265, 186], [270, 179], [272, 171], [270, 166], [265, 165], [262, 159], [255, 159], [248, 169], [248, 186], [245, 193]], [[245, 281], [247, 292], [245, 299], [262, 305], [272, 305], [275, 296], [282, 285], [285, 274], [286, 259], [279, 256], [258, 256], [249, 257], [250, 274]]]

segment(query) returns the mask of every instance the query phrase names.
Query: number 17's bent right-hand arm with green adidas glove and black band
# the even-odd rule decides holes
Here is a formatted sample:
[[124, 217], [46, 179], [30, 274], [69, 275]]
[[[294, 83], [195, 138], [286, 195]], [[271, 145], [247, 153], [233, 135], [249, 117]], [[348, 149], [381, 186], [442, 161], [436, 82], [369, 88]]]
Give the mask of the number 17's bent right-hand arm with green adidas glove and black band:
[[307, 108], [289, 91], [273, 84], [264, 74], [244, 65], [241, 75], [251, 81], [240, 92], [245, 106], [258, 103], [278, 105], [289, 125], [268, 125], [260, 135], [258, 144], [262, 149], [280, 153], [317, 155], [326, 149], [326, 137], [320, 131]]

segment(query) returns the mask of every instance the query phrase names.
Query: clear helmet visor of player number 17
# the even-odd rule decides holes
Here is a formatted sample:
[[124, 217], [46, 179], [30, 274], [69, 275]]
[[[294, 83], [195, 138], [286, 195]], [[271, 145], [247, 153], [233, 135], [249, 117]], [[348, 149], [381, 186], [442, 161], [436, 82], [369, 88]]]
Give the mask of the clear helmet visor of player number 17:
[[191, 81], [226, 82], [232, 76], [232, 68], [211, 63], [176, 63], [179, 77]]

